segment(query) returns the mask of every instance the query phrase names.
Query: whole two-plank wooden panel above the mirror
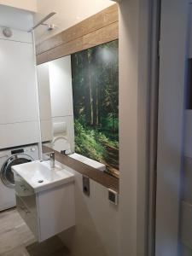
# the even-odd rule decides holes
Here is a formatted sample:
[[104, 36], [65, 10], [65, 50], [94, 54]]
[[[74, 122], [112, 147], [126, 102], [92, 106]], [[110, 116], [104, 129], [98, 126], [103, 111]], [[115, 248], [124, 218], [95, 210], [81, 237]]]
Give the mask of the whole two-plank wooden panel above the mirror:
[[37, 64], [53, 61], [118, 38], [118, 7], [114, 4], [53, 38], [38, 44], [36, 46]]

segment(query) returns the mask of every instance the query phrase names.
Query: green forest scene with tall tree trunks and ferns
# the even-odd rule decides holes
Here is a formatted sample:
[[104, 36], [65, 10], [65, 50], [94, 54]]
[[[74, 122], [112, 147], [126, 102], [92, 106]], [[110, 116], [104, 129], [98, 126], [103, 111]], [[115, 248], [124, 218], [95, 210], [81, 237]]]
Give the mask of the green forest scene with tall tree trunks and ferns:
[[75, 152], [119, 173], [118, 40], [72, 55]]

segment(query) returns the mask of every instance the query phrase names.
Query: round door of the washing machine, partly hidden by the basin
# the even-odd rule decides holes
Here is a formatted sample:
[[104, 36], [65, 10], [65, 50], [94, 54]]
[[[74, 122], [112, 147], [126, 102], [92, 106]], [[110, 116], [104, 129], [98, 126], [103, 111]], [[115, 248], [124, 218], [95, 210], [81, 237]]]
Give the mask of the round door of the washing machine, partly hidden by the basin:
[[9, 159], [5, 161], [1, 168], [1, 180], [3, 184], [8, 188], [14, 188], [14, 173], [12, 172], [11, 167], [25, 164], [31, 162], [32, 160], [32, 157], [27, 154], [15, 154], [9, 157]]

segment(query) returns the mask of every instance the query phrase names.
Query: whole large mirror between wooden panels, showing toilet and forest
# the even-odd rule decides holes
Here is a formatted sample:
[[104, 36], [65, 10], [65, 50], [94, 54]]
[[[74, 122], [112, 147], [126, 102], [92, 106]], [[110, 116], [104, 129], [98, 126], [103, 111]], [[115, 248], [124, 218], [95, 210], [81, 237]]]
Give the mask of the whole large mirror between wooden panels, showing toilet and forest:
[[[42, 143], [119, 174], [118, 40], [38, 65]], [[73, 155], [71, 155], [73, 156]], [[101, 170], [103, 171], [101, 166]]]

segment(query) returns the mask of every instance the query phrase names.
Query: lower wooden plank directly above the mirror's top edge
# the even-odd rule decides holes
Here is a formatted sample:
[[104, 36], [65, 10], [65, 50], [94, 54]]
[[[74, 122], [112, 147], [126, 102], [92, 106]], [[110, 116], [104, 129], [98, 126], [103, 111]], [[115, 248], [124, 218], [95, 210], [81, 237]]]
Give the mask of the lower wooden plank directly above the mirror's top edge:
[[70, 55], [80, 50], [88, 49], [90, 47], [118, 39], [118, 31], [118, 22], [102, 27], [101, 29], [91, 32], [84, 37], [76, 38], [67, 44], [61, 44], [37, 55], [37, 64], [53, 61], [61, 58], [62, 56]]

